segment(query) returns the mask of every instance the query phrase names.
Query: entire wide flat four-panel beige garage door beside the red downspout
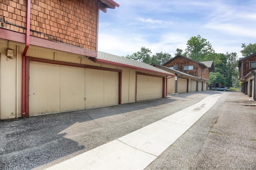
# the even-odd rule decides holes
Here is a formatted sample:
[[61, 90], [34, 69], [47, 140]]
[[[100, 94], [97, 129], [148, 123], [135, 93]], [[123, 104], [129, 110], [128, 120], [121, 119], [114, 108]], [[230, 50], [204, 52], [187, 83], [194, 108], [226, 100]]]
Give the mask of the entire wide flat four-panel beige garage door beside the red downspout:
[[118, 104], [118, 72], [30, 61], [29, 115]]

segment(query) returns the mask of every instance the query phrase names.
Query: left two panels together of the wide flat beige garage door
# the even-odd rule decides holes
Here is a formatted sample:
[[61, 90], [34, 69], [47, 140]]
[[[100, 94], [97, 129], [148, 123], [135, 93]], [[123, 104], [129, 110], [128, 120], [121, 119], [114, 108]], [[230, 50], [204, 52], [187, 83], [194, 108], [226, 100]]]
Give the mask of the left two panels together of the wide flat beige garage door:
[[85, 108], [84, 68], [30, 61], [29, 115]]

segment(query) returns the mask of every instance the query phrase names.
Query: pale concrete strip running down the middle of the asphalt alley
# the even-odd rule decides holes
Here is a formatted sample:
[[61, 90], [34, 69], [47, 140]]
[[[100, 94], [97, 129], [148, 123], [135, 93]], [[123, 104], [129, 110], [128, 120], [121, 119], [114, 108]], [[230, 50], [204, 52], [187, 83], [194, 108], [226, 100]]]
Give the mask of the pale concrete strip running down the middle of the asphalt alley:
[[112, 142], [47, 168], [52, 169], [139, 169], [146, 168], [204, 113], [223, 93], [214, 94], [164, 119]]

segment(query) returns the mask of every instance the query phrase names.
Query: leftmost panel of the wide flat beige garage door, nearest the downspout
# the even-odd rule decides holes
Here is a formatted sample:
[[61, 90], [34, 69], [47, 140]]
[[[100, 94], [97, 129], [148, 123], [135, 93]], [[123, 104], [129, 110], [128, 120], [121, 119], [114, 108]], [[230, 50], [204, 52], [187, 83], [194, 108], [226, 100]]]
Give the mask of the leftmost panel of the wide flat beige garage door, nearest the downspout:
[[60, 111], [60, 65], [30, 61], [29, 115]]

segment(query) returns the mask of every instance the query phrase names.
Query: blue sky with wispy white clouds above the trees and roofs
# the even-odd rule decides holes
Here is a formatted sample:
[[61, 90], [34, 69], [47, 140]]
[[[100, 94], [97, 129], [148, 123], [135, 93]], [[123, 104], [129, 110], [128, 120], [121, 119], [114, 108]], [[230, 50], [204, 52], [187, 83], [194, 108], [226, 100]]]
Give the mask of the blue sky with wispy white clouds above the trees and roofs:
[[100, 11], [98, 51], [126, 56], [145, 47], [175, 57], [200, 35], [216, 53], [242, 57], [242, 43], [256, 43], [256, 0], [114, 1], [118, 8]]

